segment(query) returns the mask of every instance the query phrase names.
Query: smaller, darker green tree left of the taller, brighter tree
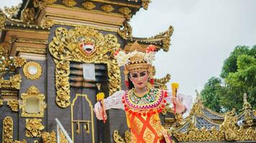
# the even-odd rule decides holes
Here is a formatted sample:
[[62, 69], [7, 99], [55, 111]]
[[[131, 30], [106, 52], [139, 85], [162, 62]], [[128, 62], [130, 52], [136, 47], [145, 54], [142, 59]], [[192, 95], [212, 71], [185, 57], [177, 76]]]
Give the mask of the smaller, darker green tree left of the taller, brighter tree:
[[204, 85], [204, 89], [201, 91], [201, 97], [204, 100], [204, 105], [210, 109], [220, 112], [220, 97], [219, 91], [221, 89], [221, 79], [217, 77], [211, 77]]

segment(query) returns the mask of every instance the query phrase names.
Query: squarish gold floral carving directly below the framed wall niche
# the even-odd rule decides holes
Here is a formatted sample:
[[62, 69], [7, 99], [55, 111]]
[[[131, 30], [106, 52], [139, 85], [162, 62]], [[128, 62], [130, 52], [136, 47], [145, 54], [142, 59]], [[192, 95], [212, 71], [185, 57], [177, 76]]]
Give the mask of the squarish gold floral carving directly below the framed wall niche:
[[45, 127], [42, 125], [42, 119], [26, 119], [26, 137], [41, 137], [42, 129]]

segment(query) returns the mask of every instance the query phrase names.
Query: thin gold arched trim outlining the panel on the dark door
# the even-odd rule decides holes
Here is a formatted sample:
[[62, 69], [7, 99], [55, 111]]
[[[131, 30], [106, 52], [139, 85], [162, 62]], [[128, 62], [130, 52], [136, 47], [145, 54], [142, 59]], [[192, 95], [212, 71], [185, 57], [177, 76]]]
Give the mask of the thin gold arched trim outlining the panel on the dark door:
[[76, 124], [76, 123], [74, 123], [74, 119], [73, 119], [73, 107], [75, 106], [75, 102], [76, 102], [76, 100], [78, 99], [78, 97], [84, 97], [85, 99], [86, 99], [86, 101], [89, 103], [89, 107], [91, 107], [90, 108], [90, 110], [91, 110], [91, 133], [92, 133], [92, 135], [91, 135], [91, 138], [92, 138], [92, 142], [94, 143], [95, 141], [94, 141], [94, 120], [93, 120], [93, 114], [94, 114], [94, 112], [93, 112], [93, 105], [91, 104], [91, 101], [90, 101], [90, 99], [88, 99], [88, 96], [87, 96], [87, 94], [76, 94], [76, 97], [75, 97], [75, 99], [73, 99], [73, 102], [72, 102], [72, 104], [71, 104], [71, 130], [72, 130], [72, 140], [73, 140], [73, 142], [74, 142], [74, 125], [73, 124]]

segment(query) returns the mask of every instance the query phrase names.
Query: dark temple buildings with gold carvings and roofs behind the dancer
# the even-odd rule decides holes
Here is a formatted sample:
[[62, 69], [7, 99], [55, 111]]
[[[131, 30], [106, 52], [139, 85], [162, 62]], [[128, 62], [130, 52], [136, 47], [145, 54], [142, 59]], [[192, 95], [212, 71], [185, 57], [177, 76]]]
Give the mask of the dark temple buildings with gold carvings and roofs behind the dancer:
[[[169, 51], [173, 26], [150, 37], [132, 36], [129, 20], [150, 0], [23, 0], [0, 11], [0, 142], [129, 142], [124, 112], [96, 119], [96, 94], [125, 89], [114, 51], [137, 41]], [[160, 53], [157, 53], [160, 54]], [[165, 88], [170, 74], [155, 79]], [[173, 142], [255, 142], [256, 113], [219, 114], [200, 96], [186, 119], [165, 109]], [[241, 124], [237, 124], [237, 122]]]

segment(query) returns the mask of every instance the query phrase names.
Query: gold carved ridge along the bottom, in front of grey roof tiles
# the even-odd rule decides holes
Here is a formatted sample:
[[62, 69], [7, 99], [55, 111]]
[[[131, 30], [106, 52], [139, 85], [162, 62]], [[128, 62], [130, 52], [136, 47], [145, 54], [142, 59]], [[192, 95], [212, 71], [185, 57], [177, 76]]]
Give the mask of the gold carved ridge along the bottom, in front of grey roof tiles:
[[235, 110], [225, 114], [224, 122], [219, 126], [206, 129], [196, 128], [189, 120], [187, 132], [174, 132], [173, 136], [180, 142], [223, 142], [223, 141], [253, 141], [256, 139], [256, 129], [252, 127], [237, 127]]

